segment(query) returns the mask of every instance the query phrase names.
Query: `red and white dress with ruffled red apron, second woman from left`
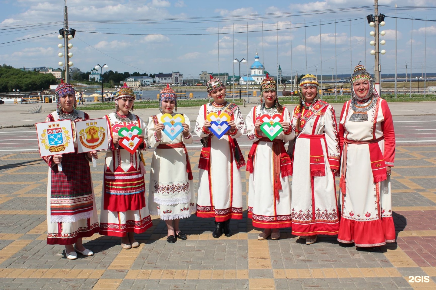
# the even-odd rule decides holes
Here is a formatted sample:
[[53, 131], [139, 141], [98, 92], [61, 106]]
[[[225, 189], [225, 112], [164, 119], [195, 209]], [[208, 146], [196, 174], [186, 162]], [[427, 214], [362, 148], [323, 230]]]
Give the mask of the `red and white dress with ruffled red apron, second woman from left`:
[[128, 232], [143, 233], [152, 226], [145, 202], [145, 169], [141, 164], [141, 151], [147, 150], [148, 144], [144, 139], [134, 154], [121, 146], [115, 148], [113, 135], [123, 127], [130, 129], [137, 126], [146, 135], [146, 125], [137, 115], [125, 122], [118, 120], [115, 114], [106, 115], [111, 138], [105, 160], [99, 233], [123, 237]]

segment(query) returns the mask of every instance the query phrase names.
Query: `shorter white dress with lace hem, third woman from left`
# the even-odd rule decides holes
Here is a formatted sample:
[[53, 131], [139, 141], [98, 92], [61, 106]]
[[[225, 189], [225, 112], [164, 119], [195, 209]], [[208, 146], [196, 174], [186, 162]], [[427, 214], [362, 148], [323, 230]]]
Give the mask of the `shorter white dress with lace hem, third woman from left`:
[[[172, 115], [175, 115], [174, 113]], [[191, 123], [186, 115], [184, 123], [189, 126], [189, 136], [183, 132], [174, 140], [161, 132], [156, 138], [155, 123], [162, 123], [162, 113], [150, 116], [147, 124], [150, 146], [156, 148], [151, 159], [150, 189], [148, 206], [150, 214], [160, 215], [160, 219], [183, 219], [196, 212], [192, 173], [184, 144], [192, 144]], [[177, 147], [177, 148], [171, 148]], [[188, 166], [188, 167], [187, 167]], [[191, 179], [189, 177], [191, 176]]]

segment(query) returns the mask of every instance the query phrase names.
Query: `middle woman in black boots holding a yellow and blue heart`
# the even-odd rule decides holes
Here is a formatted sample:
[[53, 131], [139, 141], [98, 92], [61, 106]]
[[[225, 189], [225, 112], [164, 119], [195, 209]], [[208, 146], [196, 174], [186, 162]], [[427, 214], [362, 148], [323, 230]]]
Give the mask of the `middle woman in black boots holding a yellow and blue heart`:
[[[215, 218], [212, 236], [218, 238], [223, 231], [225, 236], [232, 236], [230, 219], [242, 219], [240, 168], [245, 165], [245, 160], [236, 138], [244, 133], [245, 122], [238, 106], [225, 100], [222, 81], [210, 77], [206, 88], [213, 101], [201, 106], [195, 125], [195, 133], [202, 138], [203, 144], [198, 164], [197, 216]], [[225, 121], [221, 118], [227, 118], [221, 115], [223, 113], [230, 118], [226, 121], [230, 129], [218, 138], [210, 129], [211, 126], [219, 129], [220, 122]], [[226, 125], [222, 125], [221, 129], [224, 130]]]

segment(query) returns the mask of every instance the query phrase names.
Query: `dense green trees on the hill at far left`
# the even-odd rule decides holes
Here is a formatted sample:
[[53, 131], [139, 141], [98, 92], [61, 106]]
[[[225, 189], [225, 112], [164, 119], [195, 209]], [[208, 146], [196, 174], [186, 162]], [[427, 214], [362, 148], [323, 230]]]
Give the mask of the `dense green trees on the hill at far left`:
[[0, 92], [6, 93], [12, 90], [40, 91], [50, 88], [51, 84], [57, 84], [53, 74], [40, 74], [37, 71], [23, 71], [9, 65], [0, 65]]

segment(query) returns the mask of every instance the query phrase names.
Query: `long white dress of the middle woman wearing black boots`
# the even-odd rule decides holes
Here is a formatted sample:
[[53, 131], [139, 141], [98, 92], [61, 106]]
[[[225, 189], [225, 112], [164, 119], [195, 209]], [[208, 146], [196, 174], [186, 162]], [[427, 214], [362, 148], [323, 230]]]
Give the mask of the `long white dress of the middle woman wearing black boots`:
[[[226, 133], [221, 139], [204, 128], [206, 116], [226, 112], [235, 121], [234, 133]], [[199, 162], [199, 186], [197, 216], [214, 217], [217, 222], [242, 219], [242, 184], [240, 167], [245, 165], [235, 138], [244, 133], [245, 121], [234, 103], [223, 106], [212, 103], [202, 105], [197, 117], [195, 133], [203, 138]], [[236, 145], [236, 146], [235, 146]]]

